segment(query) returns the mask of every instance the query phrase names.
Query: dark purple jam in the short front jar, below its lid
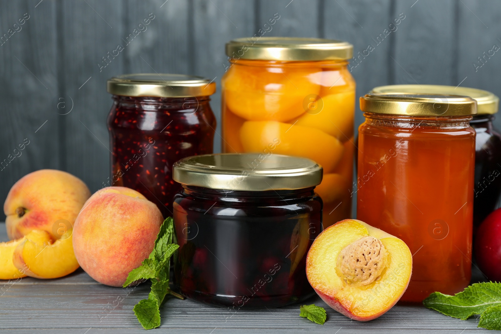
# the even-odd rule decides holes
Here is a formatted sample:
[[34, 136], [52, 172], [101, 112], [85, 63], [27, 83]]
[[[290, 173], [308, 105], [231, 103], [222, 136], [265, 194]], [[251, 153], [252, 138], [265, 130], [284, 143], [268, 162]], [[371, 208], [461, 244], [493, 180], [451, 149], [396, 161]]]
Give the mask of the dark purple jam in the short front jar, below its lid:
[[185, 186], [174, 199], [175, 282], [189, 298], [231, 311], [314, 294], [306, 255], [322, 229], [313, 187], [218, 191]]

